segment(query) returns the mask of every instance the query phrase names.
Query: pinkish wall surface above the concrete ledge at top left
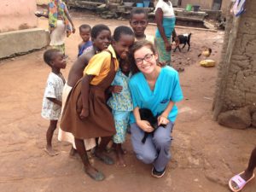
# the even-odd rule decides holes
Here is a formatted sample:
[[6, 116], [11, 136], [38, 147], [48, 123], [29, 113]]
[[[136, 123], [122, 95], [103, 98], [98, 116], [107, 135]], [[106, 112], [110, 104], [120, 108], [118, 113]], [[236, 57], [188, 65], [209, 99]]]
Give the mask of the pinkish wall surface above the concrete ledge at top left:
[[1, 0], [0, 32], [33, 28], [38, 25], [34, 15], [36, 0]]

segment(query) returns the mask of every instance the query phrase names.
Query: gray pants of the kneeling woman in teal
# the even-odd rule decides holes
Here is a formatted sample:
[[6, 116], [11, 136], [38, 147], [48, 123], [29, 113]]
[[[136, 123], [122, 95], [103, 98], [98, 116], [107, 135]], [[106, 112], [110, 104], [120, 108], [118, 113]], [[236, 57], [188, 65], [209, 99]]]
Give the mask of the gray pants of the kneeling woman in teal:
[[172, 122], [165, 128], [160, 126], [154, 131], [154, 137], [149, 134], [143, 144], [144, 131], [136, 123], [131, 124], [131, 143], [137, 159], [146, 164], [152, 163], [157, 171], [163, 171], [171, 159], [172, 127]]

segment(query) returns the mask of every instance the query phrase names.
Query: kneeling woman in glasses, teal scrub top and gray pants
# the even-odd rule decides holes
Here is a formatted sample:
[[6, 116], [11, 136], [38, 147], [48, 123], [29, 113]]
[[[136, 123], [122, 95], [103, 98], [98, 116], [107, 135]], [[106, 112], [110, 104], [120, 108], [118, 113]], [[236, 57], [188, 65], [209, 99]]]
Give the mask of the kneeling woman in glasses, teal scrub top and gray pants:
[[[137, 159], [152, 164], [152, 176], [162, 177], [171, 159], [171, 132], [177, 117], [176, 102], [183, 99], [178, 73], [172, 67], [157, 65], [158, 55], [154, 45], [146, 40], [136, 42], [131, 49], [135, 73], [130, 80], [134, 111], [131, 115], [131, 143]], [[148, 108], [158, 116], [158, 129], [142, 120], [139, 108]], [[165, 125], [162, 126], [162, 125]], [[145, 132], [149, 134], [145, 143]]]

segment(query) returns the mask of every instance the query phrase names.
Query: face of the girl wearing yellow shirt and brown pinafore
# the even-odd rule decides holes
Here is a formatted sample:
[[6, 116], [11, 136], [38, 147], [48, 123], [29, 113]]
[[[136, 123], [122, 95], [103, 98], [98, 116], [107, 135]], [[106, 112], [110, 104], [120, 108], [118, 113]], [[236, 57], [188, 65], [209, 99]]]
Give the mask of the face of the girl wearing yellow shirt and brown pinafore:
[[116, 54], [123, 60], [129, 55], [131, 45], [134, 43], [134, 36], [128, 34], [120, 34], [119, 41], [113, 40], [113, 49]]

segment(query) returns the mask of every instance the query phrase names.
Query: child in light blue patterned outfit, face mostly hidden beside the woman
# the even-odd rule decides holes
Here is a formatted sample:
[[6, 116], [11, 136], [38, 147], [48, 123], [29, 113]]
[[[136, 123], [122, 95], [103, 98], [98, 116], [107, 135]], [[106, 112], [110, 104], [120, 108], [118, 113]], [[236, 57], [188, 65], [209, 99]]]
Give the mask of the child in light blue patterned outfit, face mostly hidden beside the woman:
[[116, 134], [113, 136], [113, 143], [117, 156], [117, 165], [126, 166], [122, 143], [125, 143], [127, 126], [130, 113], [133, 110], [131, 93], [128, 87], [131, 78], [131, 62], [120, 61], [119, 71], [113, 79], [113, 85], [109, 90], [113, 93], [108, 100], [108, 106], [112, 108]]

